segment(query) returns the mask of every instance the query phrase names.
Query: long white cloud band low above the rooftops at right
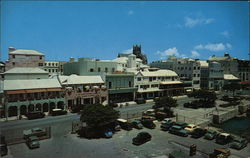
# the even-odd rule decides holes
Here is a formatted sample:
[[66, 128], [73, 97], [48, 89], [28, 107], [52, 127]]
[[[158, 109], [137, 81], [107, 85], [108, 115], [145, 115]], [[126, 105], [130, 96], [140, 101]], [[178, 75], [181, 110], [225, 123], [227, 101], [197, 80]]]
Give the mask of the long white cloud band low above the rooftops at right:
[[194, 47], [194, 49], [206, 49], [209, 51], [213, 51], [213, 52], [218, 52], [218, 51], [224, 51], [226, 49], [231, 49], [232, 45], [229, 43], [223, 44], [223, 43], [209, 43], [207, 45], [202, 45], [199, 44], [197, 46]]

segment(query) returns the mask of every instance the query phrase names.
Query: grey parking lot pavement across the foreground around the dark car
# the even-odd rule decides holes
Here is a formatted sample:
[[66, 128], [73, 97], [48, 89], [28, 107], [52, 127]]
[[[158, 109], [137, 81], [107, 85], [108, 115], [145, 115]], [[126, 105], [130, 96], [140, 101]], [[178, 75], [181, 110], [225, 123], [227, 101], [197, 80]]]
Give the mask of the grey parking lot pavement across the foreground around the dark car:
[[[9, 146], [9, 154], [6, 158], [110, 158], [110, 157], [131, 157], [147, 158], [168, 155], [173, 150], [181, 150], [189, 153], [191, 144], [196, 144], [197, 152], [194, 157], [208, 157], [207, 154], [213, 152], [214, 148], [228, 147], [216, 144], [214, 140], [205, 140], [188, 137], [180, 137], [160, 130], [160, 122], [156, 122], [155, 129], [143, 128], [131, 131], [121, 130], [110, 139], [85, 139], [79, 138], [77, 134], [71, 134], [71, 123], [65, 122], [53, 125], [50, 139], [40, 141], [40, 148], [30, 150], [25, 143]], [[146, 131], [152, 135], [151, 141], [135, 146], [132, 138], [139, 132]], [[247, 158], [250, 156], [250, 146], [242, 150], [231, 150], [233, 157]]]

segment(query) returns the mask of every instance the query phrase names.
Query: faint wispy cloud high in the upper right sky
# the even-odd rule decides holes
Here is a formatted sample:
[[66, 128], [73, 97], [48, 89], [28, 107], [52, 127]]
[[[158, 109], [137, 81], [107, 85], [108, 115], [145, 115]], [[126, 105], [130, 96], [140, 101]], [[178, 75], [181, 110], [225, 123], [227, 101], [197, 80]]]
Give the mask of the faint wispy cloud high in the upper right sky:
[[214, 19], [213, 18], [190, 18], [190, 17], [185, 17], [185, 26], [192, 28], [195, 27], [197, 25], [205, 25], [205, 24], [210, 24], [211, 22], [213, 22]]

